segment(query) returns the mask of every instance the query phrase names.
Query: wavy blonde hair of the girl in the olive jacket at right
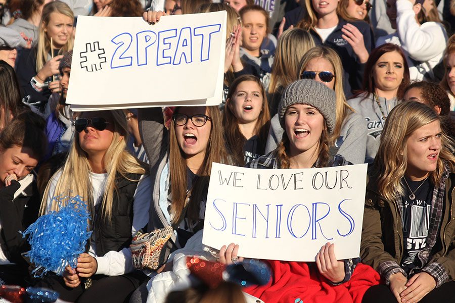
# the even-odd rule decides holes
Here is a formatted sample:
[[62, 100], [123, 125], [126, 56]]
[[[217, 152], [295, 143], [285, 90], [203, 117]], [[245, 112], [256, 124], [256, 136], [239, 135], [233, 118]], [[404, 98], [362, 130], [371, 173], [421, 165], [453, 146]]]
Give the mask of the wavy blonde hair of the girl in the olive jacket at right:
[[[418, 128], [440, 121], [432, 108], [418, 102], [404, 102], [390, 112], [381, 134], [381, 144], [375, 165], [379, 171], [378, 191], [392, 201], [397, 194], [403, 195], [401, 178], [407, 168], [407, 139]], [[450, 139], [443, 133], [436, 170], [430, 172], [433, 184], [437, 184], [444, 171], [444, 162], [453, 170], [455, 156]]]

